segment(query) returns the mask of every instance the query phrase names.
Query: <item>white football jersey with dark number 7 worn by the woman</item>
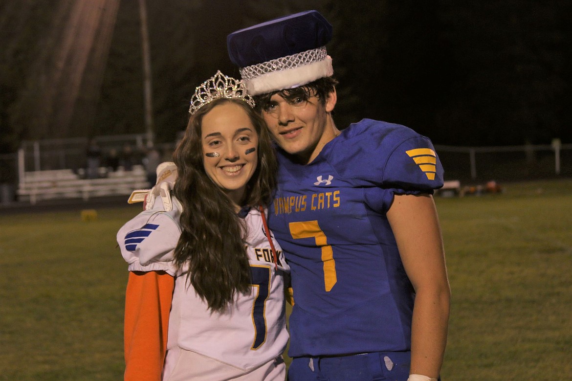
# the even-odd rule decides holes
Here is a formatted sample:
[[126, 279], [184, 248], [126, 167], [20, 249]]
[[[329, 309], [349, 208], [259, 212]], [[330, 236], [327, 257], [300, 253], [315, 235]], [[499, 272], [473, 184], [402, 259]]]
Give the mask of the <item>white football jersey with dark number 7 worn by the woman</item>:
[[141, 212], [117, 233], [129, 271], [162, 270], [176, 277], [167, 350], [180, 347], [243, 369], [259, 366], [282, 354], [288, 342], [284, 282], [289, 267], [280, 245], [272, 237], [277, 265], [273, 263], [260, 211], [251, 209], [245, 217], [251, 293], [235, 296], [235, 303], [225, 313], [211, 312], [186, 282], [186, 275], [174, 267], [180, 211], [176, 199], [170, 212], [165, 212], [162, 202], [157, 200], [152, 210]]

